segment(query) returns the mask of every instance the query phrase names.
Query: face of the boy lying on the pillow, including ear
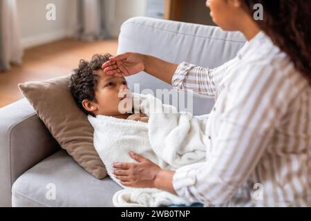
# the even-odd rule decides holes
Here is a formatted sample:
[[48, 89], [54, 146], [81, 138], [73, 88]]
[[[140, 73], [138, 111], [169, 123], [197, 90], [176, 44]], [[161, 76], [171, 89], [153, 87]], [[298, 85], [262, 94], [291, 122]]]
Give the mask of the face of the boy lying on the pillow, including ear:
[[104, 70], [95, 70], [99, 76], [95, 98], [97, 102], [84, 100], [84, 108], [95, 115], [122, 117], [132, 109], [131, 91], [127, 87], [124, 77], [106, 75]]

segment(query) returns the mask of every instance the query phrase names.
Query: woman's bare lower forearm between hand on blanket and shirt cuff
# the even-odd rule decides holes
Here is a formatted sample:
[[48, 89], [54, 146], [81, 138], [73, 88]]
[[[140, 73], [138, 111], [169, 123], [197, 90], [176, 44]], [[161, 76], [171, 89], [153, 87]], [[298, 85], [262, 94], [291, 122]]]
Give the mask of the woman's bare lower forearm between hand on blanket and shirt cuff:
[[173, 175], [175, 171], [167, 171], [167, 170], [160, 170], [156, 175], [154, 180], [154, 188], [161, 189], [162, 191], [167, 191], [169, 193], [173, 193], [177, 195], [175, 189], [173, 188]]

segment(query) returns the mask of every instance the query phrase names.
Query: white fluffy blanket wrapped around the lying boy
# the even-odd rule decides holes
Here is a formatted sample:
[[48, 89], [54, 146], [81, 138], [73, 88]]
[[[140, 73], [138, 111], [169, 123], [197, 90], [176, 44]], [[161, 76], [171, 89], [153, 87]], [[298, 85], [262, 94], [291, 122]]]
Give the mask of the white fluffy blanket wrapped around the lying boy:
[[[191, 113], [178, 113], [174, 106], [162, 104], [152, 95], [133, 93], [135, 108], [149, 116], [149, 122], [136, 122], [97, 115], [88, 116], [94, 127], [94, 146], [104, 162], [109, 176], [113, 163], [135, 162], [129, 151], [134, 151], [163, 169], [175, 171], [180, 166], [202, 162], [207, 151], [205, 127], [208, 115], [195, 117]], [[139, 106], [139, 107], [138, 107]], [[120, 184], [122, 186], [122, 184]], [[131, 188], [117, 191], [115, 206], [168, 206], [186, 204], [187, 200], [158, 189]]]

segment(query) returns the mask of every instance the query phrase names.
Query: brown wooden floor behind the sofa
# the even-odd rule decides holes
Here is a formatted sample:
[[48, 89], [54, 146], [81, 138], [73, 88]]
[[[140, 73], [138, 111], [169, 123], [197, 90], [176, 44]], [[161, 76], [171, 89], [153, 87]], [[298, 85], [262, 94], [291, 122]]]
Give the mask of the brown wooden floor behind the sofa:
[[0, 108], [23, 98], [17, 88], [19, 83], [68, 75], [79, 59], [89, 60], [95, 53], [115, 55], [116, 52], [117, 39], [94, 42], [64, 39], [25, 50], [21, 66], [0, 72]]

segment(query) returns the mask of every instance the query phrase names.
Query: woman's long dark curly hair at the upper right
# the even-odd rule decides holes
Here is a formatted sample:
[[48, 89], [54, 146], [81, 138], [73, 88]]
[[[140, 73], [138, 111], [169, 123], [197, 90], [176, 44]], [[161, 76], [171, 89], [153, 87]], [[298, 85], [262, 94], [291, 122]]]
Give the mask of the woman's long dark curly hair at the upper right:
[[263, 6], [258, 25], [285, 52], [311, 86], [311, 3], [304, 0], [243, 0], [253, 16], [254, 5]]

